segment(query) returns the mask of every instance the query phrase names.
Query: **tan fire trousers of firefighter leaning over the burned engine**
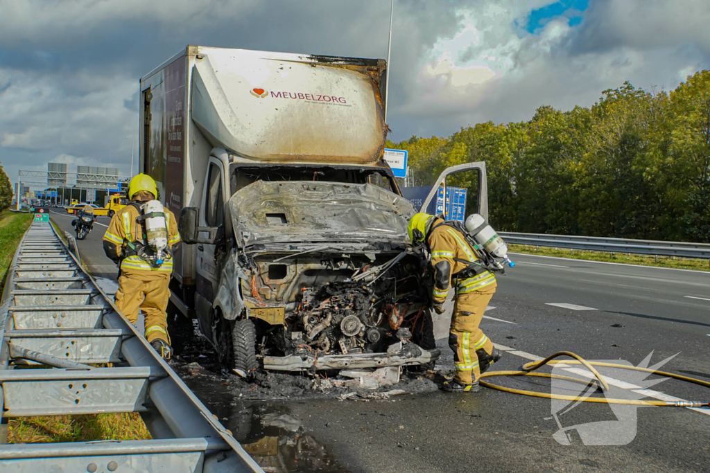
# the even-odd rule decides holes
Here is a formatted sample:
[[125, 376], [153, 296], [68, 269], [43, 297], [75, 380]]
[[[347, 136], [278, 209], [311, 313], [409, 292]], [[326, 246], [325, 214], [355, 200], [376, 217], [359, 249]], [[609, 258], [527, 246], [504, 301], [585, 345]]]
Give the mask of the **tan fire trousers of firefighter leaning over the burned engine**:
[[449, 330], [449, 347], [454, 350], [456, 379], [464, 384], [477, 381], [481, 375], [476, 350], [483, 348], [488, 355], [493, 352], [493, 342], [481, 331], [479, 324], [486, 306], [496, 289], [457, 294]]

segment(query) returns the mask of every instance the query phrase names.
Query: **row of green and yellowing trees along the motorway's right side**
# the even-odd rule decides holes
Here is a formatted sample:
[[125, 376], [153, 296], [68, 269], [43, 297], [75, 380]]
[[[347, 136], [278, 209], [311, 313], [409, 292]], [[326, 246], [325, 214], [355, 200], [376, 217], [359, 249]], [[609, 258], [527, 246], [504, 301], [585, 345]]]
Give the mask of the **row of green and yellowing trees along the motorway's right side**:
[[388, 147], [409, 150], [417, 186], [485, 161], [501, 231], [710, 242], [710, 71], [670, 93], [625, 82], [590, 108]]

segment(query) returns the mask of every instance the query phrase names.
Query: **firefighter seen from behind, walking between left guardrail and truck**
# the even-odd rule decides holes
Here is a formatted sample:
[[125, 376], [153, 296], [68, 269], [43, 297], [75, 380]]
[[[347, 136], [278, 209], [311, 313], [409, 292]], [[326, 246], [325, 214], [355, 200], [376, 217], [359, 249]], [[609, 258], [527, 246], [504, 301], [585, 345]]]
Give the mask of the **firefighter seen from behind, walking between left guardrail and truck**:
[[[133, 324], [138, 321], [138, 311], [143, 312], [148, 343], [168, 360], [173, 349], [165, 308], [170, 296], [168, 283], [173, 272], [173, 258], [157, 262], [148, 258], [151, 250], [141, 218], [141, 205], [158, 196], [155, 181], [146, 174], [138, 174], [129, 183], [128, 196], [130, 204], [114, 214], [104, 234], [104, 251], [119, 266], [119, 289], [114, 301]], [[173, 247], [180, 241], [178, 225], [168, 208], [163, 207], [163, 216], [168, 228], [168, 247]]]

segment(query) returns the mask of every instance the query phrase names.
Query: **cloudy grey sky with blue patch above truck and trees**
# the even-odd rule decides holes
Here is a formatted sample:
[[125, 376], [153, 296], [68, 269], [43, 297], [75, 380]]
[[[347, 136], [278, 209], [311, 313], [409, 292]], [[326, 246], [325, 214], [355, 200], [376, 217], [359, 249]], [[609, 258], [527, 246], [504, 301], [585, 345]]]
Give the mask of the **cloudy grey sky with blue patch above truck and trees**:
[[[0, 0], [0, 161], [13, 182], [47, 162], [127, 175], [138, 81], [185, 45], [386, 58], [389, 11], [389, 0]], [[674, 89], [710, 69], [709, 24], [707, 0], [395, 0], [389, 138], [591, 106], [624, 81]]]

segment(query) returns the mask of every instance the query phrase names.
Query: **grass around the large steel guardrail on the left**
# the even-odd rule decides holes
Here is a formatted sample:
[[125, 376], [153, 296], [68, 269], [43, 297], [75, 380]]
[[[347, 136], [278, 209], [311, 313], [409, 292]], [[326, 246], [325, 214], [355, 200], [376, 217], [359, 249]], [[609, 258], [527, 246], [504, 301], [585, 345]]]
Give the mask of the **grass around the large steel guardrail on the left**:
[[[0, 280], [32, 222], [31, 213], [0, 213]], [[52, 223], [54, 226], [55, 224]], [[55, 228], [57, 228], [55, 226]], [[58, 233], [63, 233], [57, 228]], [[0, 293], [1, 294], [1, 293]], [[8, 443], [87, 442], [92, 440], [147, 440], [151, 434], [138, 413], [40, 416], [10, 419]]]

